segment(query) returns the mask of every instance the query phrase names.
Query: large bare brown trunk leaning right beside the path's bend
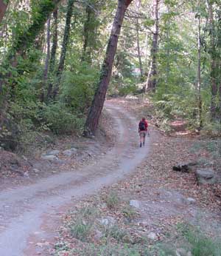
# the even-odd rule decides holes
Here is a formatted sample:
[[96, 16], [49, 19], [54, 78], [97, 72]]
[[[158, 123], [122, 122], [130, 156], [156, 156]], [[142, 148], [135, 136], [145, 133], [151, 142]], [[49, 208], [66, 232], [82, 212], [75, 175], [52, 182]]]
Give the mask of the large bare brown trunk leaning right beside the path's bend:
[[108, 47], [105, 54], [105, 59], [102, 64], [102, 70], [100, 74], [99, 84], [97, 91], [94, 95], [94, 100], [91, 105], [91, 109], [88, 113], [88, 118], [85, 123], [84, 135], [94, 135], [98, 124], [99, 118], [102, 112], [102, 108], [105, 102], [106, 92], [108, 90], [108, 84], [111, 79], [112, 67], [114, 55], [116, 53], [117, 42], [124, 19], [124, 13], [127, 7], [133, 0], [119, 0], [116, 10], [116, 16], [113, 21], [113, 27], [111, 30], [111, 36], [108, 41]]

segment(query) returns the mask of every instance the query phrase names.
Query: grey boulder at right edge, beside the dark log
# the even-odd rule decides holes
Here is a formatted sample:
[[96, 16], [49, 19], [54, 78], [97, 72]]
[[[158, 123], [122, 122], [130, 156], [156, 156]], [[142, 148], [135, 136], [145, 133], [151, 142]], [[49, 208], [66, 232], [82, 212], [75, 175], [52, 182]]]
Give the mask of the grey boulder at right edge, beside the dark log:
[[195, 176], [198, 184], [214, 184], [218, 181], [213, 169], [197, 169]]

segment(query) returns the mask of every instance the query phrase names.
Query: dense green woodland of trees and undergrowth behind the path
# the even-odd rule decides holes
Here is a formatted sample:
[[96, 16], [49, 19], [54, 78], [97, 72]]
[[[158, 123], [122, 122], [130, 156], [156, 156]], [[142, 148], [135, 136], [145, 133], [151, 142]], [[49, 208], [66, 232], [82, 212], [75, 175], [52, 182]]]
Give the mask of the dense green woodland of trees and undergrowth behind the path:
[[148, 95], [164, 130], [185, 120], [220, 134], [220, 0], [1, 0], [0, 9], [4, 149], [81, 134], [107, 87], [112, 97]]

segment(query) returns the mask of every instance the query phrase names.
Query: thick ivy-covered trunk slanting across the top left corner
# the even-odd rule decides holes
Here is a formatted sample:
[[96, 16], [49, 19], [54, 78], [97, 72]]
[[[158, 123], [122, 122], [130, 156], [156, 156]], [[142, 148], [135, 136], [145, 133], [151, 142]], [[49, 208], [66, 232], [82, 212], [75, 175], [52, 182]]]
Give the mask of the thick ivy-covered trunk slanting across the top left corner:
[[[55, 10], [60, 0], [40, 0], [38, 3], [38, 15], [32, 17], [32, 22], [27, 28], [15, 37], [13, 45], [7, 54], [7, 57], [2, 61], [4, 63], [3, 70], [8, 70], [10, 66], [16, 67], [18, 64], [18, 56], [23, 56], [27, 49], [34, 43], [35, 38], [43, 30], [43, 26], [49, 18], [50, 14]], [[11, 77], [11, 73], [0, 74], [0, 94], [2, 93], [3, 84]]]

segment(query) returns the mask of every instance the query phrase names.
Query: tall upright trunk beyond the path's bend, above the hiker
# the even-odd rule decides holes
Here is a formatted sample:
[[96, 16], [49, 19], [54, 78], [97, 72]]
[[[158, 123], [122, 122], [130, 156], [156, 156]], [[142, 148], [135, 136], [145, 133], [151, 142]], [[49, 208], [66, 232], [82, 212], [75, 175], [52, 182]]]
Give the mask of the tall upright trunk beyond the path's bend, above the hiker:
[[155, 19], [154, 31], [152, 36], [152, 49], [151, 49], [151, 61], [150, 69], [147, 75], [146, 87], [144, 87], [144, 92], [146, 88], [148, 90], [155, 91], [156, 88], [156, 75], [157, 75], [157, 52], [158, 52], [158, 33], [159, 33], [159, 18], [158, 18], [158, 4], [160, 0], [154, 0], [153, 3], [153, 15]]

